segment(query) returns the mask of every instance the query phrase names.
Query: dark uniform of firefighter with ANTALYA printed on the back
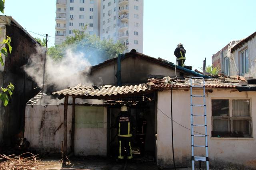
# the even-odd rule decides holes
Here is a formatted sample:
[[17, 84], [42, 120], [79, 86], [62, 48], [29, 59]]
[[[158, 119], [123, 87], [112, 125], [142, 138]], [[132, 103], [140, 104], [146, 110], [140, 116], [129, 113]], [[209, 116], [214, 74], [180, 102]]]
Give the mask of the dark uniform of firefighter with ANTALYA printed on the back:
[[117, 139], [119, 155], [118, 159], [124, 159], [124, 151], [126, 149], [127, 159], [132, 159], [132, 133], [136, 128], [134, 118], [127, 111], [121, 111], [116, 117]]

